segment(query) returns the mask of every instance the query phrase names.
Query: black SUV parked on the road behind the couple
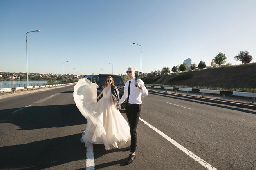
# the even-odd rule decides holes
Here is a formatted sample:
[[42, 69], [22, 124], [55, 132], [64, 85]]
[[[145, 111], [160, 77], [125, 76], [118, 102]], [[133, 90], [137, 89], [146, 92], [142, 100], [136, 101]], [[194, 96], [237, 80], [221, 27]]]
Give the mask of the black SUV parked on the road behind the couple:
[[[97, 96], [101, 92], [103, 88], [106, 78], [108, 76], [113, 77], [115, 86], [118, 88], [120, 99], [124, 94], [124, 80], [119, 75], [113, 74], [98, 74], [98, 75], [83, 75], [82, 78], [87, 78], [91, 82], [98, 84], [99, 88], [97, 88]], [[121, 109], [126, 109], [126, 100], [121, 104]]]

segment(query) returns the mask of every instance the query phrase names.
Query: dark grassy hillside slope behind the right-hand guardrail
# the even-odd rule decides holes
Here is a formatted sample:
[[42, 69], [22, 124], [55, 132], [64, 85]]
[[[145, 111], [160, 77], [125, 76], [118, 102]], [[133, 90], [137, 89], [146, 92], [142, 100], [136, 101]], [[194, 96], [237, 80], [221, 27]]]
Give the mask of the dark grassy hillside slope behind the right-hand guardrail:
[[256, 89], [256, 63], [222, 66], [164, 76], [144, 77], [143, 81], [145, 84], [189, 86], [191, 88]]

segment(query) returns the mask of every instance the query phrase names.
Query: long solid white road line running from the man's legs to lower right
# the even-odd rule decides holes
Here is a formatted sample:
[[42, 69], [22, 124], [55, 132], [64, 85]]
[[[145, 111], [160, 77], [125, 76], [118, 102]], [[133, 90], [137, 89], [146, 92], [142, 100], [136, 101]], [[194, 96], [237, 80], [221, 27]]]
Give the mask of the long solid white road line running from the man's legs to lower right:
[[205, 168], [207, 168], [208, 170], [217, 170], [216, 168], [214, 168], [212, 165], [210, 165], [209, 163], [207, 163], [206, 161], [204, 161], [203, 159], [201, 159], [200, 157], [196, 156], [195, 154], [193, 154], [191, 151], [189, 151], [188, 149], [184, 148], [182, 145], [180, 145], [179, 143], [177, 143], [175, 140], [171, 139], [171, 137], [168, 137], [167, 135], [165, 135], [163, 132], [161, 132], [160, 130], [158, 130], [157, 128], [155, 128], [154, 126], [150, 125], [148, 122], [146, 122], [145, 120], [139, 118], [139, 120], [141, 120], [144, 124], [146, 124], [148, 127], [150, 127], [151, 129], [155, 130], [159, 135], [161, 135], [162, 137], [164, 137], [166, 140], [168, 140], [169, 142], [171, 142], [174, 146], [176, 146], [177, 148], [179, 148], [180, 150], [182, 150], [182, 152], [184, 152], [186, 155], [188, 155], [189, 157], [191, 157], [192, 159], [194, 159], [195, 161], [197, 161], [198, 163], [200, 163], [202, 166], [204, 166]]

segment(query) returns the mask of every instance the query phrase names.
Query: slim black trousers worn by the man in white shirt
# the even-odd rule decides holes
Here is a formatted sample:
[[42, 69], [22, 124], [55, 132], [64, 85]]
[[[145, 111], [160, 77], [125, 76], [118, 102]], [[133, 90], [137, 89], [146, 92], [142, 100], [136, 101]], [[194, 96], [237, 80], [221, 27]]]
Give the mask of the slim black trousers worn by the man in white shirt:
[[131, 152], [136, 151], [137, 144], [137, 125], [139, 122], [139, 115], [141, 111], [141, 105], [128, 105], [126, 104], [126, 116], [130, 125], [131, 133]]

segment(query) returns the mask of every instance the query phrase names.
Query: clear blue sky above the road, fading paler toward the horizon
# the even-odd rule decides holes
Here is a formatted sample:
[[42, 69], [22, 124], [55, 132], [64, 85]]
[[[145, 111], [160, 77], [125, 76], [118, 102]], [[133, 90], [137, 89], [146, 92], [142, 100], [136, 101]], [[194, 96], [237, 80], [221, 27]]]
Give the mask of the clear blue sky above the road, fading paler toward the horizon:
[[256, 61], [256, 0], [0, 0], [0, 70], [125, 74], [198, 64], [220, 51]]

